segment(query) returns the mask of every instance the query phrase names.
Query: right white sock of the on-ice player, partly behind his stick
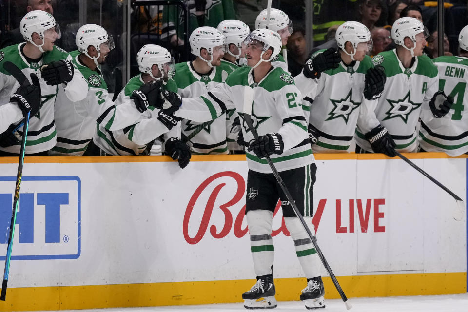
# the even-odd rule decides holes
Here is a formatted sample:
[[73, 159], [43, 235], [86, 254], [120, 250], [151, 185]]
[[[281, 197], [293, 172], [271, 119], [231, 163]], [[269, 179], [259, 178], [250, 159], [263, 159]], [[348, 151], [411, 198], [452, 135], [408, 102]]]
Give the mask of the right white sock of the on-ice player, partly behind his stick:
[[[315, 235], [315, 229], [312, 225], [312, 217], [304, 217], [306, 224], [309, 225], [309, 229], [312, 235]], [[291, 238], [294, 241], [294, 247], [296, 248], [297, 258], [302, 266], [302, 270], [306, 275], [306, 278], [312, 278], [320, 276], [320, 258], [318, 257], [315, 248], [313, 247], [312, 241], [309, 238], [306, 230], [302, 226], [301, 221], [297, 217], [285, 217], [284, 223], [286, 228], [291, 233]]]

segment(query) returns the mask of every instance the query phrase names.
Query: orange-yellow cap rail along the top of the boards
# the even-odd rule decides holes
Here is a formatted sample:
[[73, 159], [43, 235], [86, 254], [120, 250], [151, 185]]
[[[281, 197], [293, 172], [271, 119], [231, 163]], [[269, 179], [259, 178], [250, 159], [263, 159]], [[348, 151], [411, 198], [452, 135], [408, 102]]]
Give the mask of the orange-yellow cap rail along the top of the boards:
[[[445, 153], [402, 153], [409, 159], [434, 159], [434, 158], [468, 158], [468, 155], [450, 157]], [[336, 153], [313, 155], [317, 160], [340, 159], [400, 159], [387, 157], [383, 154], [355, 154]], [[24, 163], [114, 163], [114, 162], [168, 162], [169, 156], [41, 156], [24, 157]], [[245, 155], [193, 155], [190, 161], [245, 161]], [[18, 157], [0, 157], [0, 164], [18, 163]]]

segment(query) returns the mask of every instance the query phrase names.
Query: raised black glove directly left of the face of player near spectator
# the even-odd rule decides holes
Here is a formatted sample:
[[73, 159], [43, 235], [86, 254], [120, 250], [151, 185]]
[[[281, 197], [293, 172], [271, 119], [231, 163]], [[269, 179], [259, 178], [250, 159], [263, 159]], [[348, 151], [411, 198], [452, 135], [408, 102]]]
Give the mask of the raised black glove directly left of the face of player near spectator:
[[329, 48], [323, 52], [314, 53], [312, 58], [304, 64], [302, 72], [307, 78], [319, 78], [321, 72], [338, 68], [340, 62], [340, 51], [335, 48]]

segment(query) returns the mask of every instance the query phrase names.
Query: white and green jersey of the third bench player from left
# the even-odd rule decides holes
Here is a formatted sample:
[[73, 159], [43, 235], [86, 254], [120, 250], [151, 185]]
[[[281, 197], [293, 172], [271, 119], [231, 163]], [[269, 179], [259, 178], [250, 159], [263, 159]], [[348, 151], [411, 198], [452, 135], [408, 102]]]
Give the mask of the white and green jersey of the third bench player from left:
[[[143, 84], [141, 74], [131, 78], [116, 98], [117, 109], [131, 101], [132, 92], [138, 90]], [[162, 88], [173, 92], [177, 91], [177, 85], [172, 79], [165, 82]], [[147, 155], [151, 148], [148, 144], [160, 135], [164, 134], [165, 138], [180, 138], [180, 126], [173, 127], [169, 131], [163, 123], [157, 120], [158, 113], [157, 108], [150, 106], [139, 115], [138, 120], [133, 125], [114, 131], [106, 129], [102, 123], [98, 124], [93, 140], [101, 150], [109, 155]]]

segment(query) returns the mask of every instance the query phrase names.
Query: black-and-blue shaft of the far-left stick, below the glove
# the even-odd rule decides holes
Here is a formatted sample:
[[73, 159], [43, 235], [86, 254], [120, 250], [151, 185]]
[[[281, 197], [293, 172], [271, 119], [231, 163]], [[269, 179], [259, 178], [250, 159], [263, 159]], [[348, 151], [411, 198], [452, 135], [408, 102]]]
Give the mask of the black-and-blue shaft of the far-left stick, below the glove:
[[18, 173], [16, 176], [15, 193], [13, 197], [13, 208], [11, 213], [10, 228], [8, 233], [8, 247], [6, 250], [5, 269], [3, 271], [3, 282], [1, 284], [0, 300], [6, 300], [6, 288], [8, 284], [8, 275], [10, 274], [10, 260], [13, 249], [13, 235], [15, 234], [16, 213], [18, 211], [18, 200], [20, 199], [21, 176], [23, 173], [24, 152], [26, 150], [26, 137], [28, 136], [29, 112], [24, 118], [24, 133], [21, 138], [20, 160], [18, 162]]

